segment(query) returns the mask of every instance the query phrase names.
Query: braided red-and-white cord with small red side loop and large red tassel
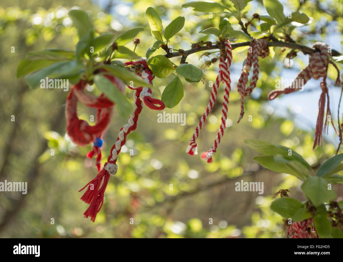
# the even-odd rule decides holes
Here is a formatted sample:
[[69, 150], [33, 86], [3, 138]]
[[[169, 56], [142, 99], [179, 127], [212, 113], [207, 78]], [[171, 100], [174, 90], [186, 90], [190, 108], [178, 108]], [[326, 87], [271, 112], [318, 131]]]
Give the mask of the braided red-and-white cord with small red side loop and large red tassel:
[[[152, 84], [155, 75], [149, 69], [145, 58], [141, 58], [137, 61], [127, 62], [125, 63], [125, 66], [130, 67], [130, 69], [132, 68], [137, 75], [141, 76], [144, 79], [144, 81]], [[80, 190], [82, 191], [86, 187], [88, 187], [86, 192], [82, 195], [81, 200], [83, 200], [87, 204], [90, 204], [88, 209], [84, 212], [84, 216], [86, 218], [90, 216], [93, 222], [95, 221], [96, 214], [100, 211], [104, 203], [104, 193], [109, 177], [114, 176], [118, 171], [118, 166], [116, 163], [118, 154], [121, 151], [121, 147], [126, 143], [128, 134], [137, 128], [137, 121], [142, 111], [143, 103], [145, 103], [147, 107], [154, 110], [163, 110], [165, 108], [165, 104], [161, 100], [152, 98], [152, 91], [149, 88], [133, 88], [131, 86], [128, 87], [134, 90], [134, 110], [130, 114], [128, 124], [120, 129], [117, 141], [111, 147], [111, 153], [107, 158], [107, 162], [104, 164], [104, 168], [99, 171], [98, 175], [92, 181], [90, 181], [88, 184], [86, 184], [85, 187]]]

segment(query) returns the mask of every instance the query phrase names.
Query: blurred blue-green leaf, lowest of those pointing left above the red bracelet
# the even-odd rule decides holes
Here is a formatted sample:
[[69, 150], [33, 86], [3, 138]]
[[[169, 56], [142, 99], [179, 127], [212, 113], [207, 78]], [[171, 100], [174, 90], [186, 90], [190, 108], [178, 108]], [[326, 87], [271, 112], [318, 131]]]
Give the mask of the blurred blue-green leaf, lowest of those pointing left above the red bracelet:
[[40, 85], [40, 81], [45, 79], [47, 76], [57, 77], [63, 74], [72, 74], [81, 70], [83, 67], [82, 63], [72, 60], [72, 61], [60, 61], [50, 66], [43, 68], [31, 75], [25, 77], [25, 81], [31, 88], [36, 88]]

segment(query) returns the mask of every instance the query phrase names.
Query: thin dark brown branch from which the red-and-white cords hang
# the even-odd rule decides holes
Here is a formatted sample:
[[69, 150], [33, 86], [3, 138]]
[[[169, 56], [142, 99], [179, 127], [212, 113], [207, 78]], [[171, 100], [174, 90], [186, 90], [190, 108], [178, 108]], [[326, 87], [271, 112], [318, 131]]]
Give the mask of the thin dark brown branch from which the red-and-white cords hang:
[[[241, 42], [241, 43], [233, 43], [231, 44], [232, 49], [235, 49], [237, 47], [242, 47], [242, 46], [248, 46], [250, 44], [250, 42]], [[287, 47], [287, 48], [292, 48], [292, 49], [297, 49], [300, 50], [301, 52], [303, 52], [305, 55], [309, 55], [312, 54], [316, 51], [315, 48], [313, 47], [308, 47], [308, 46], [304, 46], [304, 45], [299, 45], [299, 44], [295, 44], [295, 43], [288, 43], [288, 42], [283, 42], [283, 41], [271, 41], [268, 42], [268, 46], [277, 46], [277, 47]], [[196, 53], [196, 52], [200, 52], [200, 51], [206, 51], [206, 50], [213, 50], [213, 49], [219, 49], [219, 45], [212, 45], [212, 46], [201, 46], [201, 47], [197, 47], [197, 48], [192, 48], [189, 50], [185, 50], [186, 56], [189, 56], [192, 53]], [[336, 51], [336, 50], [331, 50], [332, 52], [332, 56], [340, 56], [342, 55], [342, 53]], [[167, 55], [165, 55], [165, 57], [171, 58], [171, 57], [178, 57], [181, 56], [179, 52], [173, 52], [173, 53], [168, 53]]]

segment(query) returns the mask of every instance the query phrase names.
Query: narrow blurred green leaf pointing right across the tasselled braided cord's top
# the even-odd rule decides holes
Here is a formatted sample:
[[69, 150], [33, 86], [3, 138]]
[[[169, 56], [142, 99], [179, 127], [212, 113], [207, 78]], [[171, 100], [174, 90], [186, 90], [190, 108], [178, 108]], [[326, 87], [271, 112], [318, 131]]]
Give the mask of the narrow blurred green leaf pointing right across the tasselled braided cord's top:
[[121, 66], [104, 64], [101, 67], [106, 69], [109, 73], [113, 74], [114, 76], [120, 78], [127, 85], [130, 84], [130, 81], [133, 81], [134, 87], [146, 86], [149, 88], [157, 89], [157, 87], [154, 87], [150, 83], [145, 82], [140, 76]]

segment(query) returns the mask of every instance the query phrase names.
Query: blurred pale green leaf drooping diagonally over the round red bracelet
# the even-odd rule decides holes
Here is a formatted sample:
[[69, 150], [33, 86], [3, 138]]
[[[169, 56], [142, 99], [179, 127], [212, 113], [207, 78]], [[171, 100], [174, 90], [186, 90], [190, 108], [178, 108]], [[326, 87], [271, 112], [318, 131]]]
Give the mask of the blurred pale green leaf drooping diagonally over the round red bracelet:
[[94, 83], [112, 102], [116, 103], [116, 108], [122, 117], [128, 117], [133, 110], [129, 100], [118, 90], [118, 88], [106, 76], [95, 75]]

